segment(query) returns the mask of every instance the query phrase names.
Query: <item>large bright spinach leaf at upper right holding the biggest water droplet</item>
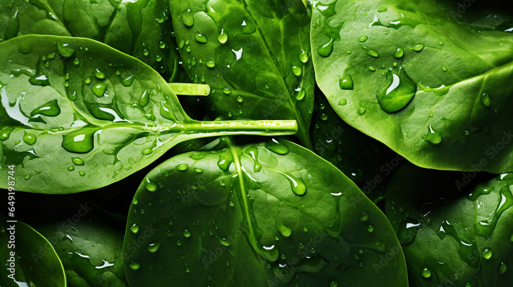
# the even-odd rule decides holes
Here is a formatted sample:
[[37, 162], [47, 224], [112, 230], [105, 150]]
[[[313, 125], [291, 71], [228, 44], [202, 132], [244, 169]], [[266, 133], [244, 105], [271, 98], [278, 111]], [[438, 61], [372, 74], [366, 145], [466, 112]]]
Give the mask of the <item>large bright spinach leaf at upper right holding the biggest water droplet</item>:
[[344, 121], [418, 166], [469, 171], [486, 159], [485, 171], [511, 171], [513, 34], [463, 25], [453, 9], [316, 2], [317, 83]]

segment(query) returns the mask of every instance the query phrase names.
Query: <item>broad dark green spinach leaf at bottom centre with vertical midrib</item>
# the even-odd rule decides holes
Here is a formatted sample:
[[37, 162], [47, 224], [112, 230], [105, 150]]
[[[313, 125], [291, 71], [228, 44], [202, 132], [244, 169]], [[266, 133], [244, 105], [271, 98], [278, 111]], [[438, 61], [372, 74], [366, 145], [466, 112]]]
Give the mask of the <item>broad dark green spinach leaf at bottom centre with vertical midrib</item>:
[[407, 286], [381, 211], [337, 168], [280, 139], [224, 137], [155, 168], [130, 206], [124, 252], [132, 287]]

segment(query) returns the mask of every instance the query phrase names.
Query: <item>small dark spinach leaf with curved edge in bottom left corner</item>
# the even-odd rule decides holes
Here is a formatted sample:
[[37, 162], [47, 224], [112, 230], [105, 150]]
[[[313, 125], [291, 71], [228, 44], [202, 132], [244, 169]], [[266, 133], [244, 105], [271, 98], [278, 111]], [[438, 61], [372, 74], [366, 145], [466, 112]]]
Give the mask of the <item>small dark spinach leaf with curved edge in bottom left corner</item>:
[[1, 215], [0, 219], [2, 286], [66, 286], [63, 265], [50, 242], [21, 221], [7, 222]]

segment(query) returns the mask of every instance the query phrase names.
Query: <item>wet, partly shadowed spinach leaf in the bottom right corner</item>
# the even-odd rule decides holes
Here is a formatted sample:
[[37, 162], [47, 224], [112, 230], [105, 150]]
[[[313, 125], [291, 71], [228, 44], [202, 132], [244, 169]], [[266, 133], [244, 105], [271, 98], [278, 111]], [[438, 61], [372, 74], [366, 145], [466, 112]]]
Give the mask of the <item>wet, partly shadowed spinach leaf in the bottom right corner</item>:
[[513, 272], [513, 174], [426, 170], [409, 162], [387, 189], [411, 287], [507, 286]]

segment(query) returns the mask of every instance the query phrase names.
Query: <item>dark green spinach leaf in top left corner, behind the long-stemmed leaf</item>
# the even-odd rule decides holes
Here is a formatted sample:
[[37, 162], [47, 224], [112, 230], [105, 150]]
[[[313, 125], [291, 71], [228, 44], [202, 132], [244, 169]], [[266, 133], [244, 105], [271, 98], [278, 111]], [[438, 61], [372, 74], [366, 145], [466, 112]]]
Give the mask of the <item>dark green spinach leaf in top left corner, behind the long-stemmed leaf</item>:
[[27, 34], [91, 38], [132, 55], [179, 81], [166, 0], [0, 0], [0, 42]]

